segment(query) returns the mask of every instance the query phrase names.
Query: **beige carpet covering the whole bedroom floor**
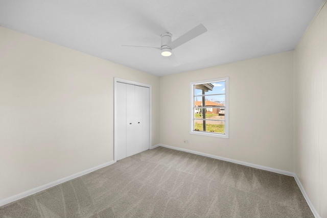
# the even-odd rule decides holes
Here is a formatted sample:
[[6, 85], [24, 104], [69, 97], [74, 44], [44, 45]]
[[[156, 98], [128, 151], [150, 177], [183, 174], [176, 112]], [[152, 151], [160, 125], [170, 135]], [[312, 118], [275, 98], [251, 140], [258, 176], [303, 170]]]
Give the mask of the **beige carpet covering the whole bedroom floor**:
[[0, 207], [0, 217], [314, 217], [293, 177], [156, 148]]

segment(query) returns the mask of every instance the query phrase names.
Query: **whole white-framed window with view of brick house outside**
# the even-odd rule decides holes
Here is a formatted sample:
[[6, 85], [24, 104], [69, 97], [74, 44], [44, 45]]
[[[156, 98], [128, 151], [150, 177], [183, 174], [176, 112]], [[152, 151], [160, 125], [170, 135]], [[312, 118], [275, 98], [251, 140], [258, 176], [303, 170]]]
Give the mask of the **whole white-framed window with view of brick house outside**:
[[190, 83], [190, 133], [228, 138], [228, 77]]

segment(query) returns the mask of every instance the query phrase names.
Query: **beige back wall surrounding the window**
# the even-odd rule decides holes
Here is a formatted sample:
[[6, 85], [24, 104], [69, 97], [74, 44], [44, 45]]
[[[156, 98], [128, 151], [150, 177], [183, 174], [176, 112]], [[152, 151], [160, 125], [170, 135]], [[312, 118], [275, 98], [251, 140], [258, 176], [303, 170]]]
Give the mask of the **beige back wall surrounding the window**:
[[[221, 77], [229, 139], [190, 134], [190, 82]], [[293, 172], [293, 52], [161, 77], [160, 143]]]

